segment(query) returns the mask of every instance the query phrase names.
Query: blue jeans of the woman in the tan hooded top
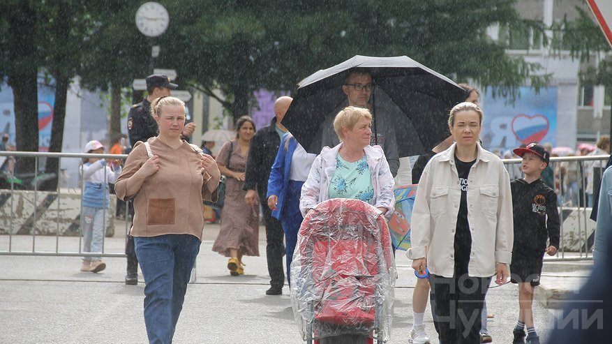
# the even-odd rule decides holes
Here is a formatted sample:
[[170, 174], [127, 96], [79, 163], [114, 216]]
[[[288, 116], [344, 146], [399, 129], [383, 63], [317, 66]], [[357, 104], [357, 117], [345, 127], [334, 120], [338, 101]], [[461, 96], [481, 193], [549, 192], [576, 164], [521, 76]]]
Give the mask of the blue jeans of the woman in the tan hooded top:
[[200, 239], [190, 234], [134, 237], [144, 276], [144, 324], [149, 343], [172, 343]]

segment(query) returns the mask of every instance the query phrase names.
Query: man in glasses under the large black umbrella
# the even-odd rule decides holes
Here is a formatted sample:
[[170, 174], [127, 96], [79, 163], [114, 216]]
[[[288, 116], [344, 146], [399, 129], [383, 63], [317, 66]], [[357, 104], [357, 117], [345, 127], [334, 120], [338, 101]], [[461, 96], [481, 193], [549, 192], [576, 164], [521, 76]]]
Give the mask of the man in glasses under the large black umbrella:
[[[325, 146], [335, 147], [340, 143], [338, 135], [334, 131], [334, 118], [338, 111], [346, 106], [357, 106], [364, 107], [371, 110], [369, 104], [374, 84], [372, 82], [372, 75], [367, 71], [360, 68], [354, 68], [346, 77], [344, 84], [342, 85], [342, 91], [346, 95], [348, 105], [343, 103], [338, 109], [331, 112], [325, 119], [321, 130], [322, 130], [322, 142], [321, 148]], [[393, 177], [396, 176], [399, 168], [399, 156], [396, 144], [395, 130], [391, 126], [389, 121], [385, 121], [384, 112], [379, 111], [375, 113], [378, 120], [375, 120], [376, 128], [372, 128], [372, 136], [370, 144], [378, 144], [385, 151], [387, 157], [387, 163], [389, 163], [389, 170]]]

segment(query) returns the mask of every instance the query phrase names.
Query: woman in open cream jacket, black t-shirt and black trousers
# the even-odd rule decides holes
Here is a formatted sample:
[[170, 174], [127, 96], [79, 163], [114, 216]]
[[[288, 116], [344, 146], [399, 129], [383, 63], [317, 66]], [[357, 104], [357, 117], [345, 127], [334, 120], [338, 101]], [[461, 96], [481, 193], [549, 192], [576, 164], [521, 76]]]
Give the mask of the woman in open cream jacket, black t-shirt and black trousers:
[[477, 143], [482, 110], [459, 103], [450, 112], [454, 141], [426, 165], [412, 209], [412, 267], [435, 294], [441, 343], [480, 343], [482, 304], [491, 276], [506, 283], [512, 258], [508, 172]]

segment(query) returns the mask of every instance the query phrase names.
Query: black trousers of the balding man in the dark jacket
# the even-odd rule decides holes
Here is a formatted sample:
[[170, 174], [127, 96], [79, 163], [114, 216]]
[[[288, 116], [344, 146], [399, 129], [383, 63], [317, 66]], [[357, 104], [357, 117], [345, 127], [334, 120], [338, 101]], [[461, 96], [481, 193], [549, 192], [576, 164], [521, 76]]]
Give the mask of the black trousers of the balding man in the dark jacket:
[[[263, 197], [260, 195], [260, 200], [265, 199], [265, 195]], [[268, 261], [268, 274], [270, 274], [270, 285], [281, 288], [285, 285], [283, 227], [281, 226], [281, 221], [272, 217], [272, 211], [268, 208], [267, 202], [262, 201], [262, 211], [266, 223], [266, 257]]]

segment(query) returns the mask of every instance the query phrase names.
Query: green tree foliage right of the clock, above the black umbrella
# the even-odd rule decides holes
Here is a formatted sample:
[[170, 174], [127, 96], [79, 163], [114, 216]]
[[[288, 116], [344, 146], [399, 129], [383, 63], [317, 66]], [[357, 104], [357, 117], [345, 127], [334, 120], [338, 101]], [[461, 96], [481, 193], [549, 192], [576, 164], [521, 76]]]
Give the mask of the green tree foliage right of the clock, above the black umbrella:
[[[492, 40], [495, 24], [542, 33], [541, 22], [523, 20], [512, 0], [467, 1], [202, 1], [175, 3], [164, 45], [165, 64], [186, 82], [218, 99], [237, 118], [253, 91], [293, 90], [316, 70], [356, 54], [408, 55], [457, 80], [474, 80], [516, 96], [525, 82], [542, 87], [548, 76], [537, 63], [506, 54]], [[172, 23], [172, 21], [171, 21]], [[543, 36], [543, 35], [541, 35]]]

